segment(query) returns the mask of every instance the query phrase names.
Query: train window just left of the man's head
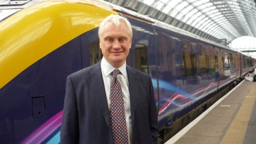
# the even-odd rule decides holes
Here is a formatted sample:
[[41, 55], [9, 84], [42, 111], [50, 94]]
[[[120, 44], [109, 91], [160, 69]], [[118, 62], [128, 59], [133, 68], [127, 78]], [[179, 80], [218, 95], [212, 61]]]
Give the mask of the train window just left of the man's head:
[[89, 44], [90, 52], [90, 66], [99, 62], [102, 59], [103, 54], [101, 53], [101, 48], [99, 48], [99, 40], [96, 40]]

